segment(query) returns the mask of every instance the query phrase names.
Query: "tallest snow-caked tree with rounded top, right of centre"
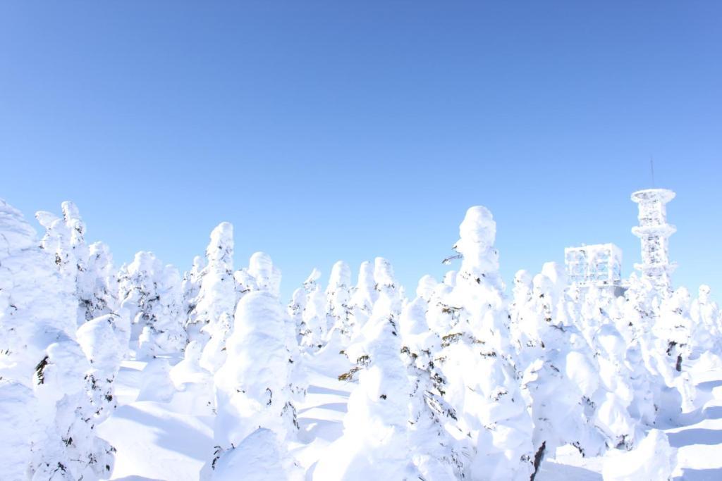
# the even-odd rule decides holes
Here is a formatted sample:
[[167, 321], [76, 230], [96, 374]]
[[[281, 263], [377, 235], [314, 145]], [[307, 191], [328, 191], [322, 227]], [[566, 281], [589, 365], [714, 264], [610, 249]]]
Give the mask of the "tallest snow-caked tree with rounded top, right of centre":
[[504, 356], [509, 314], [494, 248], [496, 223], [487, 208], [472, 207], [459, 233], [461, 269], [451, 291], [432, 299], [449, 316], [435, 356], [445, 377], [444, 399], [456, 412], [453, 429], [472, 479], [529, 479], [532, 423], [516, 370]]

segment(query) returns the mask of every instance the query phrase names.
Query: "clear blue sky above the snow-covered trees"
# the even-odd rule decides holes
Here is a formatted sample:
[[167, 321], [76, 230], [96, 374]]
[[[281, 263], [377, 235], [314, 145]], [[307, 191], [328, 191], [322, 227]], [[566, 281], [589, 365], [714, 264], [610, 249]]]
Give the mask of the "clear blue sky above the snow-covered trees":
[[0, 196], [74, 200], [116, 263], [220, 221], [289, 296], [380, 255], [409, 289], [469, 206], [509, 282], [677, 192], [674, 280], [722, 299], [720, 1], [0, 2]]

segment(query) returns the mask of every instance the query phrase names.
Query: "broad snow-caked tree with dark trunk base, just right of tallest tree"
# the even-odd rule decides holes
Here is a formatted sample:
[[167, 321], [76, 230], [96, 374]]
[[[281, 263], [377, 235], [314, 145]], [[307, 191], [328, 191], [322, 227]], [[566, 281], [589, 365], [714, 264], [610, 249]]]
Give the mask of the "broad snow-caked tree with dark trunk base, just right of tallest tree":
[[534, 423], [534, 474], [549, 453], [573, 444], [583, 455], [604, 450], [592, 399], [599, 389], [597, 366], [583, 335], [565, 310], [565, 281], [554, 262], [534, 278], [514, 277], [510, 305], [517, 367]]

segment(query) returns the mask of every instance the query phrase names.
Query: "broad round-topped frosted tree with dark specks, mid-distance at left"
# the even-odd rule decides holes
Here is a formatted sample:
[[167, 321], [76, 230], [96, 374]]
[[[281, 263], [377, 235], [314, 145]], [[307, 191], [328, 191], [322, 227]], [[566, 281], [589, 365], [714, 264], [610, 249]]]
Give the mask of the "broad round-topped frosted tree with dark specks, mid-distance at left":
[[186, 343], [181, 275], [152, 252], [138, 252], [118, 273], [121, 309], [131, 319], [131, 341], [147, 356], [176, 353]]

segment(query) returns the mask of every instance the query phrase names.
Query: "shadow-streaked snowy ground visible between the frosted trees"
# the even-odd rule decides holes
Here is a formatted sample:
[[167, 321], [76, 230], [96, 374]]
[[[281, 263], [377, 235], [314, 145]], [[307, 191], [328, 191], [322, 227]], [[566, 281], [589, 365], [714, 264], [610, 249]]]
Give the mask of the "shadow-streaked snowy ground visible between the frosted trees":
[[[339, 381], [347, 371], [343, 356], [324, 350], [308, 358], [309, 387], [297, 407], [299, 441], [292, 454], [310, 480], [323, 450], [342, 435], [347, 400], [355, 387]], [[171, 363], [178, 361], [170, 359]], [[142, 361], [125, 361], [116, 380], [120, 406], [97, 427], [101, 437], [118, 450], [111, 480], [197, 480], [213, 453], [213, 424], [209, 416], [184, 409], [180, 402], [137, 400], [142, 387]], [[666, 428], [669, 444], [677, 448], [675, 480], [722, 479], [722, 370], [687, 366], [697, 387], [695, 410], [684, 425]], [[601, 458], [583, 458], [571, 446], [557, 451], [541, 466], [537, 480], [601, 480]]]

